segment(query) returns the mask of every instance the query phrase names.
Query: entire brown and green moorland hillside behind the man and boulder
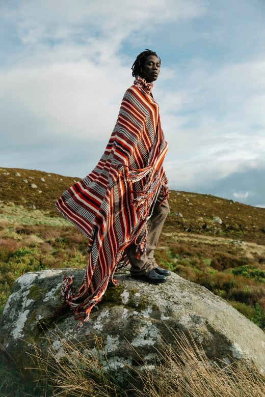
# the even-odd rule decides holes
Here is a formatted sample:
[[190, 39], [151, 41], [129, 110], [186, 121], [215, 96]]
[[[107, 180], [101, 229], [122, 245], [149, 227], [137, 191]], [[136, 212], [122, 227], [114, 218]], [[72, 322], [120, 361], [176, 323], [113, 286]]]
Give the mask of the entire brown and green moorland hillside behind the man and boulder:
[[[78, 179], [0, 168], [0, 307], [27, 271], [86, 266], [86, 238], [54, 207]], [[265, 209], [181, 191], [170, 192], [169, 204], [157, 263], [222, 296], [264, 328]]]

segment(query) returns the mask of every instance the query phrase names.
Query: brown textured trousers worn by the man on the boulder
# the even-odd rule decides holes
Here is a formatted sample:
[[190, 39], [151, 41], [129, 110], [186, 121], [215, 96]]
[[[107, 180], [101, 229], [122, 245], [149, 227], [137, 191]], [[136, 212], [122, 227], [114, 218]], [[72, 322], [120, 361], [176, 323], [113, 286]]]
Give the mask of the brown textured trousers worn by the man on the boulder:
[[162, 228], [166, 217], [169, 213], [169, 204], [168, 200], [165, 200], [164, 203], [160, 206], [161, 202], [163, 201], [162, 191], [157, 197], [157, 200], [154, 205], [153, 213], [150, 219], [148, 219], [147, 224], [144, 226], [141, 235], [145, 232], [145, 228], [148, 229], [147, 235], [147, 244], [146, 250], [140, 255], [140, 258], [137, 259], [136, 253], [136, 244], [130, 244], [126, 248], [126, 254], [131, 265], [130, 273], [132, 274], [146, 274], [150, 270], [155, 269], [158, 265], [154, 259], [154, 250], [158, 243], [158, 239], [162, 232]]

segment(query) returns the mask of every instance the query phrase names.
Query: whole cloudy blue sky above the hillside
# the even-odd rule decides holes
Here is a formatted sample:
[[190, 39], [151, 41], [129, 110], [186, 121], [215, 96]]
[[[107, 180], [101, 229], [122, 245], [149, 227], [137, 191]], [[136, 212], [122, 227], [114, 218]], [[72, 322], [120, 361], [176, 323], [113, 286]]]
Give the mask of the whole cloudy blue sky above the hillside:
[[264, 0], [0, 0], [0, 33], [0, 166], [89, 174], [150, 48], [169, 188], [265, 208]]

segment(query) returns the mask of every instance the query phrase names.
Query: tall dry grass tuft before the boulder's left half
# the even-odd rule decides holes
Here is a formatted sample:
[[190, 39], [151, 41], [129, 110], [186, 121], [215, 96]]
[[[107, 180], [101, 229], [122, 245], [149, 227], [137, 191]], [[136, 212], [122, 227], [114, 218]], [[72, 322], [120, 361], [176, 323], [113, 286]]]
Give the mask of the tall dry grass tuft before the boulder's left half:
[[[116, 380], [100, 338], [92, 336], [83, 343], [69, 339], [66, 335], [54, 334], [55, 339], [46, 338], [47, 355], [34, 344], [32, 356], [34, 367], [40, 371], [45, 395], [61, 397], [126, 397], [122, 385]], [[55, 342], [56, 341], [56, 342]], [[92, 350], [88, 344], [94, 345]], [[58, 349], [54, 349], [54, 346]]]

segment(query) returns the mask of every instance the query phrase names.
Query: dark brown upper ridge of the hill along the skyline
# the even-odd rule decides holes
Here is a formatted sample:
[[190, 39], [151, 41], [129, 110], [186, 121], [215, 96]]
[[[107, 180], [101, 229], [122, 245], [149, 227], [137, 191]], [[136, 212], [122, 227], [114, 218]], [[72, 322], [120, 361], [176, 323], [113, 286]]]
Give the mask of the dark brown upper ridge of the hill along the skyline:
[[[61, 216], [54, 203], [78, 177], [64, 177], [36, 169], [0, 167], [0, 200], [29, 210]], [[168, 231], [220, 235], [265, 244], [265, 209], [210, 194], [170, 191]]]

